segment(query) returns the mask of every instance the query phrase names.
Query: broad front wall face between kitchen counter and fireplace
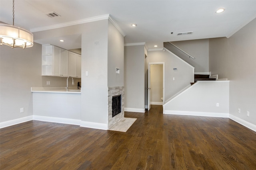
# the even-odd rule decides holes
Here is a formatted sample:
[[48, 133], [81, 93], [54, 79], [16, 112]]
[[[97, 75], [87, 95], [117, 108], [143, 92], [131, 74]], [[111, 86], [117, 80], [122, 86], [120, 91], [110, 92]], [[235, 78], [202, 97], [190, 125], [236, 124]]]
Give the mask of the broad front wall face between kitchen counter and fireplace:
[[108, 20], [86, 23], [82, 33], [81, 105], [82, 121], [107, 123]]

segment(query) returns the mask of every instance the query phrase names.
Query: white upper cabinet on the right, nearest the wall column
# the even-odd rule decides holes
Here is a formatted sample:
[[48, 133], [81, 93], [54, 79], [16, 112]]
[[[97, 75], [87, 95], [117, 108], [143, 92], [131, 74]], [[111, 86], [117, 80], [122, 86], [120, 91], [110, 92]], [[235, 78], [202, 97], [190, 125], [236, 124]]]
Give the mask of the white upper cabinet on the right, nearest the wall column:
[[81, 55], [68, 51], [69, 76], [81, 78]]

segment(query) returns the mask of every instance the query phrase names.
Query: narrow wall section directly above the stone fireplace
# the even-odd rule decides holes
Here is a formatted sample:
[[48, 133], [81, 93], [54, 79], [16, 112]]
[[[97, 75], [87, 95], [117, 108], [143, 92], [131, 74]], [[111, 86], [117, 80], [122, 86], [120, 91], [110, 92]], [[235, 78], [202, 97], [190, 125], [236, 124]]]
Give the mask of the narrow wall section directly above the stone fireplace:
[[[116, 67], [120, 74], [116, 74]], [[124, 86], [124, 36], [108, 21], [108, 86]]]

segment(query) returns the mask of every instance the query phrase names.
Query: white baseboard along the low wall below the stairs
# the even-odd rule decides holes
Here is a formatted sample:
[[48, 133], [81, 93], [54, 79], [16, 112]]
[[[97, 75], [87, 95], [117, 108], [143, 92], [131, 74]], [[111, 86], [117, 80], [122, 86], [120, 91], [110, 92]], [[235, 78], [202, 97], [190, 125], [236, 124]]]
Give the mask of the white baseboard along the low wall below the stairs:
[[206, 116], [206, 117], [226, 117], [228, 113], [212, 113], [212, 112], [199, 112], [199, 111], [175, 111], [175, 110], [164, 110], [163, 114], [169, 115], [189, 115], [189, 116]]

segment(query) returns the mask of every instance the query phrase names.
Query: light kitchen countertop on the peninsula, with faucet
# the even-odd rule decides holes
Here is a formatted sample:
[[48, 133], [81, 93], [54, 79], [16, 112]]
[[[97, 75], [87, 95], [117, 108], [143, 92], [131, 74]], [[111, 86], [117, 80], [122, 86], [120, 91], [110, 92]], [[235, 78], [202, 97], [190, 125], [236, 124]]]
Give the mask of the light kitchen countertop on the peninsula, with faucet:
[[75, 93], [81, 94], [81, 90], [70, 86], [67, 91], [65, 87], [31, 87], [31, 92], [39, 93]]

